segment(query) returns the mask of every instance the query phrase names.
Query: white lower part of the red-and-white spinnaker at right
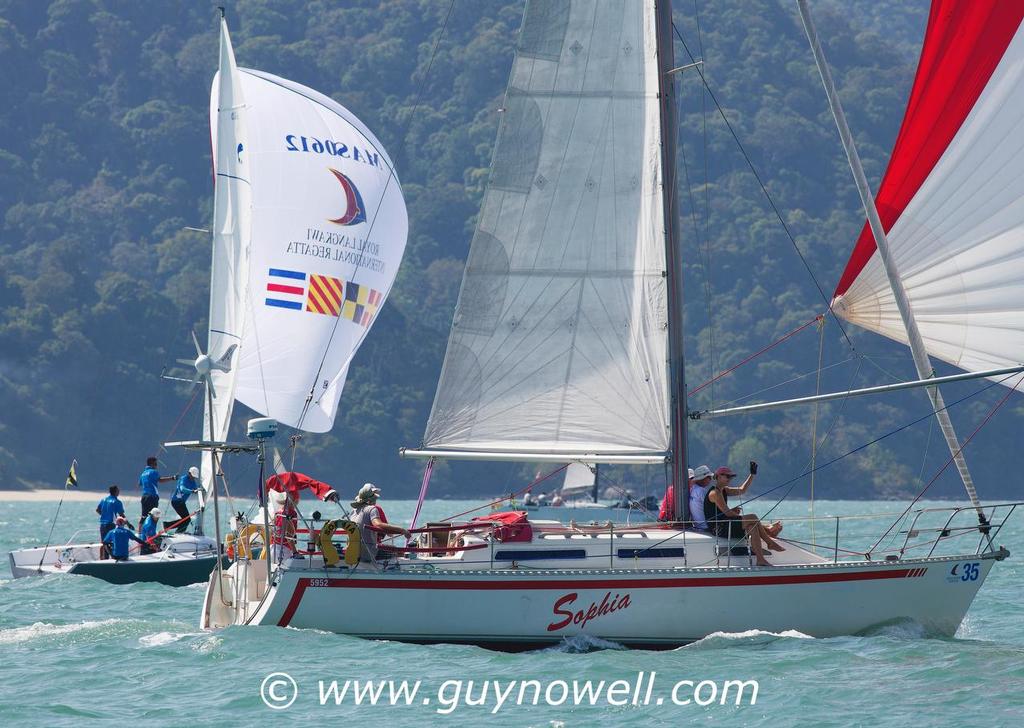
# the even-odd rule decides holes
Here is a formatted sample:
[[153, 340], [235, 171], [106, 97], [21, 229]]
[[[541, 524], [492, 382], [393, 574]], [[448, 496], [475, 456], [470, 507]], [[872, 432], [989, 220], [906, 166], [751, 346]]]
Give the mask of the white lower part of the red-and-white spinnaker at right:
[[[931, 355], [1024, 362], [1024, 26], [888, 240]], [[907, 342], [878, 252], [834, 305]]]

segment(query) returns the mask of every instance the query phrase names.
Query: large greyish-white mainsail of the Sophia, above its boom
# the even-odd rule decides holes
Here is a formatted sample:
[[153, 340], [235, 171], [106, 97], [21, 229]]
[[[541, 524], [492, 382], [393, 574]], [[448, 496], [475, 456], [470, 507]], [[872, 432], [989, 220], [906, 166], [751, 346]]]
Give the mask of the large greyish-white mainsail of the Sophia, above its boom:
[[669, 447], [653, 2], [527, 4], [428, 447]]

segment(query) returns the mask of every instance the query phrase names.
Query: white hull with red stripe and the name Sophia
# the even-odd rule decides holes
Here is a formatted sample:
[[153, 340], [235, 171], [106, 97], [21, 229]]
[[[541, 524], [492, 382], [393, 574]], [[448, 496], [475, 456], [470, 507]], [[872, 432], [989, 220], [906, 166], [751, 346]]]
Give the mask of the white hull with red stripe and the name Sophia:
[[[833, 637], [904, 619], [951, 636], [1004, 555], [765, 568], [284, 568], [243, 622], [504, 649], [578, 635], [651, 648], [748, 630]], [[215, 580], [205, 627], [223, 626], [210, 622]]]

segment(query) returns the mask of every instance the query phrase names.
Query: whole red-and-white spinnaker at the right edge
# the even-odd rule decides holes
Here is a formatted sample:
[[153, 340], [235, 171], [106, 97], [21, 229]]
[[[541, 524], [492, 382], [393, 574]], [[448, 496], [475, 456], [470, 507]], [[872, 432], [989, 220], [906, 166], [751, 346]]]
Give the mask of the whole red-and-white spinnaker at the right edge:
[[[1024, 362], [1022, 19], [1019, 2], [932, 4], [876, 198], [928, 353], [975, 372]], [[834, 307], [907, 342], [867, 225]]]

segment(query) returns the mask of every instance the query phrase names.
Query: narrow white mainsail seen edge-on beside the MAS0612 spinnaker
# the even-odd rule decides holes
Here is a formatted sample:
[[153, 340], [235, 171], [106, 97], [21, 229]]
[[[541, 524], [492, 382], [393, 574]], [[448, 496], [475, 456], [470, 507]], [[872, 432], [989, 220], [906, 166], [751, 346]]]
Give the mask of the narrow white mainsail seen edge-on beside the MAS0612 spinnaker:
[[[220, 359], [242, 343], [249, 284], [249, 246], [252, 229], [251, 165], [248, 147], [246, 99], [234, 65], [227, 24], [220, 20], [220, 68], [210, 98], [210, 132], [214, 154], [213, 256], [210, 271], [210, 328], [207, 354]], [[215, 396], [204, 403], [203, 438], [227, 436], [234, 403], [239, 351], [228, 372], [213, 370], [210, 381]], [[201, 476], [207, 491], [213, 487], [213, 456], [204, 451]], [[202, 498], [202, 497], [201, 497]], [[201, 501], [202, 503], [202, 501]]]

